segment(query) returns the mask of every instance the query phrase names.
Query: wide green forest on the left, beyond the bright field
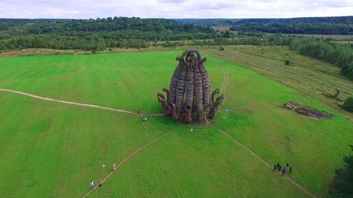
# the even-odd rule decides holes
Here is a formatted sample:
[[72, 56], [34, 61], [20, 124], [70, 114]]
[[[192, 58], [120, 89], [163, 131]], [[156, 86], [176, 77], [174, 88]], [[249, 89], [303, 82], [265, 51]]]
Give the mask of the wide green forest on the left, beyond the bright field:
[[0, 20], [0, 50], [55, 48], [104, 50], [146, 47], [147, 42], [216, 38], [215, 30], [161, 18]]

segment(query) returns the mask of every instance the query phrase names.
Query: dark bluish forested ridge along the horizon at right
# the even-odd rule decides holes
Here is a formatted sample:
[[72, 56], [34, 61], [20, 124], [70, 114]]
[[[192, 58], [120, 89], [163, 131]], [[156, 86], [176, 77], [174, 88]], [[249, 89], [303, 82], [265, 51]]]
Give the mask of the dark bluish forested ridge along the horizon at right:
[[249, 18], [236, 21], [233, 31], [353, 35], [353, 16], [310, 18]]

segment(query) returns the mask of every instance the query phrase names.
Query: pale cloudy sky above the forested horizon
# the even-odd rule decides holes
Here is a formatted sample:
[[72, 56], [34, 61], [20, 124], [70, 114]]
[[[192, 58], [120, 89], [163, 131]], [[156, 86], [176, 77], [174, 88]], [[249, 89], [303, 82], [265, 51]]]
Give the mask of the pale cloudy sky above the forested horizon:
[[0, 18], [352, 16], [353, 0], [0, 0]]

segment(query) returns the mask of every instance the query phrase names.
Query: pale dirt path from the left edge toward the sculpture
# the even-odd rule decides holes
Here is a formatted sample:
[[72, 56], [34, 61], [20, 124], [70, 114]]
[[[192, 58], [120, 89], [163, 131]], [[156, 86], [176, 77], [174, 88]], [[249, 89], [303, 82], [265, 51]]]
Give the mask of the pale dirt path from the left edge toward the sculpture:
[[[16, 93], [16, 94], [21, 94], [21, 95], [25, 95], [25, 96], [29, 96], [31, 98], [37, 98], [40, 100], [47, 100], [47, 101], [51, 101], [51, 102], [60, 102], [60, 103], [64, 103], [64, 104], [72, 104], [72, 105], [77, 105], [77, 106], [81, 106], [81, 107], [91, 107], [91, 108], [97, 108], [97, 109], [105, 109], [105, 110], [109, 110], [109, 111], [118, 111], [120, 113], [130, 113], [130, 114], [134, 114], [134, 115], [140, 115], [140, 113], [135, 113], [135, 112], [131, 112], [131, 111], [126, 111], [126, 110], [122, 110], [122, 109], [113, 109], [110, 107], [101, 107], [98, 105], [94, 105], [94, 104], [83, 104], [83, 103], [79, 103], [79, 102], [69, 102], [66, 100], [55, 100], [53, 98], [44, 98], [41, 96], [36, 96], [33, 94], [27, 94], [25, 92], [21, 92], [21, 91], [15, 91], [15, 90], [11, 90], [11, 89], [0, 89], [0, 91], [8, 91], [8, 92], [12, 92], [12, 93]], [[161, 116], [164, 114], [147, 114], [147, 115], [154, 115], [154, 116]]]

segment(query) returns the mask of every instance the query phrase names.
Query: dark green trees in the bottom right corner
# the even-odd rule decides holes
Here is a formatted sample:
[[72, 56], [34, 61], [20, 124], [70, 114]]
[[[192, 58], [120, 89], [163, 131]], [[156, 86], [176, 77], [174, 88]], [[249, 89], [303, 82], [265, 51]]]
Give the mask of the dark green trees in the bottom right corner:
[[[350, 145], [353, 151], [353, 145]], [[328, 197], [353, 197], [353, 156], [344, 156], [344, 166], [336, 169]]]

